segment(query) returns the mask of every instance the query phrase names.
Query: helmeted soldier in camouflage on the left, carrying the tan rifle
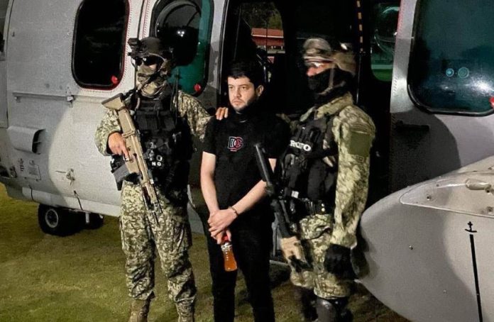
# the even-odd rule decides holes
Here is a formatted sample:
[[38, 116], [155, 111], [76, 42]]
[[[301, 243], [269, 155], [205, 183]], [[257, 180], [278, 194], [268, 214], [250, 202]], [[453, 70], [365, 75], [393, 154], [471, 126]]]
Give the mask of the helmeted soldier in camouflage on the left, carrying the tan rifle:
[[[161, 259], [161, 267], [168, 277], [168, 294], [178, 313], [178, 321], [194, 321], [194, 299], [196, 287], [188, 249], [191, 246], [190, 223], [187, 218], [187, 177], [188, 159], [192, 153], [190, 134], [204, 137], [204, 128], [209, 121], [209, 114], [194, 97], [177, 91], [173, 94], [167, 82], [171, 70], [170, 58], [158, 38], [144, 38], [138, 43], [134, 59], [137, 65], [137, 91], [126, 99], [126, 104], [133, 113], [136, 127], [144, 132], [143, 123], [154, 123], [153, 117], [163, 116], [156, 121], [161, 128], [153, 133], [169, 134], [170, 119], [173, 138], [180, 140], [170, 155], [172, 162], [177, 162], [176, 173], [158, 172], [158, 184], [155, 185], [161, 211], [158, 222], [146, 209], [143, 190], [138, 182], [124, 180], [121, 193], [120, 230], [122, 249], [126, 256], [126, 279], [131, 303], [130, 322], [147, 321], [150, 300], [153, 299], [155, 250]], [[131, 55], [132, 56], [132, 55]], [[171, 102], [170, 102], [171, 100]], [[171, 104], [170, 104], [171, 103]], [[136, 106], [139, 106], [136, 109]], [[176, 111], [171, 111], [175, 106]], [[153, 113], [142, 114], [148, 109]], [[160, 116], [155, 116], [157, 110]], [[144, 113], [144, 112], [143, 112]], [[172, 115], [172, 117], [167, 116]], [[168, 117], [168, 119], [166, 119]], [[165, 129], [163, 129], [165, 128]], [[170, 132], [171, 133], [171, 132]], [[178, 134], [177, 134], [178, 133]], [[169, 135], [171, 137], [171, 135]], [[95, 142], [103, 155], [124, 155], [128, 157], [125, 140], [121, 135], [121, 126], [113, 110], [106, 111], [99, 124]], [[168, 142], [168, 141], [167, 141]], [[145, 143], [141, 143], [144, 146]], [[167, 177], [168, 176], [168, 177]], [[166, 177], [167, 180], [164, 180]], [[160, 180], [161, 179], [161, 180]], [[170, 179], [170, 180], [168, 180]], [[160, 182], [172, 182], [167, 189]]]

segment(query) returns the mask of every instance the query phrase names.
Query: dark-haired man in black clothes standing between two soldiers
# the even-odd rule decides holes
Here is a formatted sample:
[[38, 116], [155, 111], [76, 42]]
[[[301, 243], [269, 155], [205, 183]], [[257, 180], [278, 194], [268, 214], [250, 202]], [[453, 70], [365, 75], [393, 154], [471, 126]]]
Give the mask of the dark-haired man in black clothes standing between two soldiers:
[[[230, 240], [246, 279], [254, 321], [275, 321], [269, 257], [273, 213], [265, 198], [254, 145], [262, 143], [270, 165], [287, 145], [290, 128], [262, 103], [263, 72], [257, 62], [236, 62], [228, 74], [230, 116], [206, 129], [201, 187], [209, 218], [208, 239], [214, 321], [234, 321], [237, 272], [224, 270], [220, 245]], [[204, 220], [205, 221], [205, 220]]]

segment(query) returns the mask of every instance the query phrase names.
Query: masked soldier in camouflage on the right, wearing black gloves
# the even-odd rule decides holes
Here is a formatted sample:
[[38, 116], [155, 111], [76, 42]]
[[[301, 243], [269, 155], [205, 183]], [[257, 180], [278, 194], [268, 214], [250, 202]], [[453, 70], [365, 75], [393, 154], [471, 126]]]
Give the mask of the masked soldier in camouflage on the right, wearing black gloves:
[[[316, 104], [292, 126], [280, 160], [280, 182], [297, 209], [296, 233], [308, 264], [292, 267], [290, 279], [302, 295], [306, 321], [351, 321], [351, 250], [367, 199], [375, 126], [353, 104], [356, 62], [346, 45], [309, 38], [304, 62]], [[285, 257], [300, 247], [281, 244]]]

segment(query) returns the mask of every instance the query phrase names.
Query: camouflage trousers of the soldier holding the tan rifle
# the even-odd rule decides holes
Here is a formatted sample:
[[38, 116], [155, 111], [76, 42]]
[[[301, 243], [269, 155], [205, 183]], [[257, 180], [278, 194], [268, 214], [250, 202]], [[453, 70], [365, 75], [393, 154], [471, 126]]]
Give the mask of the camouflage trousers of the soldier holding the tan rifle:
[[141, 187], [124, 183], [120, 232], [126, 256], [126, 279], [133, 299], [153, 298], [155, 251], [168, 278], [168, 296], [175, 302], [179, 321], [192, 321], [196, 287], [188, 250], [191, 246], [187, 209], [159, 196], [163, 213], [156, 225], [146, 210]]

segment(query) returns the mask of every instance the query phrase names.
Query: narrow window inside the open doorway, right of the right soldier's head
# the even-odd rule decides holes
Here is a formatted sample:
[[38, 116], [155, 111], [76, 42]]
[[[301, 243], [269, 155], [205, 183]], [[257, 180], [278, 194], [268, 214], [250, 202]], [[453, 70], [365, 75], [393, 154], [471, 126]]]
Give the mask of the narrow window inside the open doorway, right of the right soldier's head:
[[390, 82], [393, 74], [396, 28], [399, 3], [380, 3], [373, 6], [370, 16], [370, 62], [375, 78]]

